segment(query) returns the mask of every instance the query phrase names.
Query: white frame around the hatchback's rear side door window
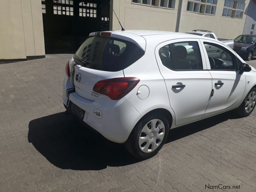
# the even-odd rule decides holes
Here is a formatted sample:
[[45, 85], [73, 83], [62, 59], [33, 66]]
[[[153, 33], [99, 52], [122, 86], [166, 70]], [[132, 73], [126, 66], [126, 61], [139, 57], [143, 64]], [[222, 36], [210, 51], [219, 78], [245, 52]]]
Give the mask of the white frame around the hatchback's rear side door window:
[[[162, 47], [167, 46], [169, 44], [189, 42], [189, 41], [197, 42], [198, 48], [199, 48], [199, 52], [200, 52], [200, 56], [201, 56], [201, 61], [202, 61], [203, 69], [171, 69], [171, 68], [166, 67], [162, 63], [162, 60], [161, 60], [161, 58], [159, 56], [159, 50]], [[202, 44], [200, 42], [200, 39], [198, 39], [198, 38], [182, 38], [182, 39], [173, 39], [173, 40], [162, 42], [162, 43], [160, 43], [160, 44], [158, 44], [156, 46], [156, 48], [155, 48], [155, 56], [156, 56], [156, 60], [157, 60], [158, 66], [159, 67], [161, 66], [161, 68], [165, 68], [165, 70], [171, 70], [171, 71], [177, 71], [177, 72], [179, 72], [179, 71], [204, 71], [204, 70], [208, 70], [207, 69], [206, 60], [205, 60], [205, 56], [204, 56], [204, 50], [203, 50]]]

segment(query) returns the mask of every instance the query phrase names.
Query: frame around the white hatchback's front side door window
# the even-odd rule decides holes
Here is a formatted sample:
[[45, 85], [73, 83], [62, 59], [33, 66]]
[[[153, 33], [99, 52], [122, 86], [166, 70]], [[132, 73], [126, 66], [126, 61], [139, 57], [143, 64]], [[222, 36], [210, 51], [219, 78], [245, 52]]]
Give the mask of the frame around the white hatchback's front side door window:
[[[234, 72], [239, 71], [239, 66], [238, 66], [238, 62], [237, 62], [237, 59], [238, 59], [237, 55], [233, 50], [230, 50], [230, 48], [228, 46], [227, 47], [229, 49], [227, 47], [224, 47], [222, 44], [219, 44], [218, 42], [211, 41], [211, 40], [208, 40], [208, 39], [200, 39], [200, 41], [201, 41], [201, 44], [202, 44], [202, 47], [203, 47], [203, 50], [204, 50], [204, 55], [205, 55], [205, 60], [206, 60], [206, 63], [207, 63], [207, 70], [208, 71], [234, 71]], [[226, 52], [228, 52], [228, 54], [230, 54], [230, 56], [232, 57], [232, 60], [234, 60], [235, 69], [211, 69], [210, 61], [209, 61], [209, 58], [208, 58], [208, 53], [207, 53], [207, 51], [204, 47], [204, 43], [215, 46], [215, 47], [218, 47], [220, 49], [224, 49]]]

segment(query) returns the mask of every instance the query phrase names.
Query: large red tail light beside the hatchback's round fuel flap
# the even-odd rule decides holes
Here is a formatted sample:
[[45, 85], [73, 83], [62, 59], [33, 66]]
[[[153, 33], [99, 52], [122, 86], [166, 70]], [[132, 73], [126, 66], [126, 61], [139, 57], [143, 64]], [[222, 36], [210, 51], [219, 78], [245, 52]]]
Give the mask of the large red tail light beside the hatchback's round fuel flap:
[[97, 82], [93, 91], [107, 95], [112, 100], [119, 100], [127, 95], [140, 82], [136, 77], [105, 79]]

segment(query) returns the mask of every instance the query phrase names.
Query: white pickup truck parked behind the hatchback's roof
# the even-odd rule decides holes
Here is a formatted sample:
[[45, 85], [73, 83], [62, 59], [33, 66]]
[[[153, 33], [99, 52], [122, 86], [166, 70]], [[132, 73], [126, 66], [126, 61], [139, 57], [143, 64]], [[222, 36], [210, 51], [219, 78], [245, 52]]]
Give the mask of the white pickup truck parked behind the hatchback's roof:
[[199, 36], [203, 36], [203, 37], [210, 37], [210, 38], [219, 40], [220, 42], [229, 46], [231, 49], [234, 48], [234, 40], [232, 40], [232, 39], [218, 39], [217, 36], [214, 33], [212, 33], [212, 31], [197, 29], [197, 30], [189, 31], [187, 33], [192, 34], [192, 35], [199, 35]]

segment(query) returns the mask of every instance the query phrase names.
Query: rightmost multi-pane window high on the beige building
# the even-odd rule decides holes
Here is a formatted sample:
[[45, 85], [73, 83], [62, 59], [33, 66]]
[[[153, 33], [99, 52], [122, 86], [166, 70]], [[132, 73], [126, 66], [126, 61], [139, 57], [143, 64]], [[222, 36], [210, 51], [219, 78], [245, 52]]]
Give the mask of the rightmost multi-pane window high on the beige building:
[[245, 3], [225, 0], [222, 17], [243, 19]]

